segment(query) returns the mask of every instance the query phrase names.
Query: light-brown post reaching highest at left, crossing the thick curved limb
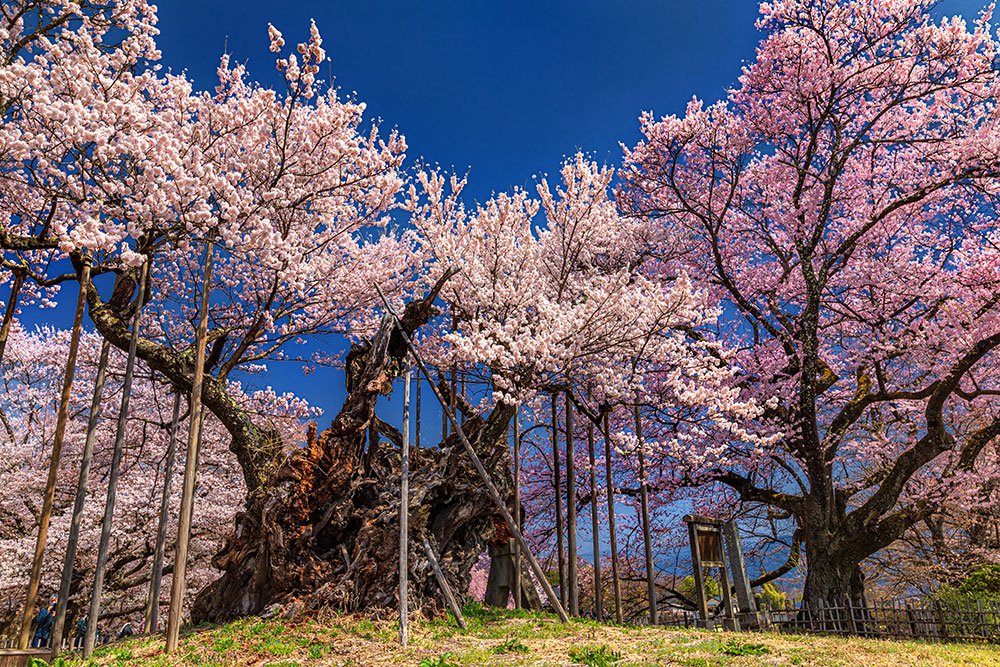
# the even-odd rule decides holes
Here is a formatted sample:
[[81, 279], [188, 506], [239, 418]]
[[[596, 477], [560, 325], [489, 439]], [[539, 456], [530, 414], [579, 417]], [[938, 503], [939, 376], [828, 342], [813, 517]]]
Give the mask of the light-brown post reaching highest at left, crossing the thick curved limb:
[[195, 334], [194, 378], [191, 383], [191, 419], [188, 427], [187, 460], [184, 462], [184, 488], [181, 493], [180, 521], [177, 527], [177, 550], [174, 577], [170, 586], [170, 612], [167, 615], [167, 653], [177, 648], [181, 632], [181, 611], [184, 605], [184, 578], [187, 575], [188, 542], [191, 539], [191, 516], [194, 503], [194, 482], [198, 473], [198, 442], [201, 433], [201, 385], [205, 375], [205, 339], [208, 336], [208, 297], [212, 279], [213, 242], [205, 246], [205, 276], [201, 284], [201, 306], [198, 330]]

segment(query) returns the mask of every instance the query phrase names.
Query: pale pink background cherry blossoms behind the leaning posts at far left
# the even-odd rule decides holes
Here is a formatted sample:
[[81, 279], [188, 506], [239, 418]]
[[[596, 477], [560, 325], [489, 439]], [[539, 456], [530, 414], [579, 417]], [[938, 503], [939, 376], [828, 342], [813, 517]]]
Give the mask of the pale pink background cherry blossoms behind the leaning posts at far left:
[[[66, 331], [48, 328], [22, 331], [15, 327], [2, 366], [4, 392], [0, 397], [0, 414], [6, 427], [0, 447], [0, 484], [4, 488], [3, 498], [0, 498], [0, 516], [3, 516], [0, 522], [0, 599], [6, 608], [16, 609], [24, 596], [38, 521], [38, 488], [48, 468], [46, 451], [53, 435], [57, 403], [54, 396], [61, 383], [67, 339]], [[73, 414], [86, 413], [100, 347], [99, 336], [84, 336], [77, 368], [77, 391], [70, 408]], [[93, 588], [107, 471], [118, 422], [116, 398], [122, 390], [124, 366], [124, 354], [111, 355], [109, 380], [104, 389], [105, 407], [98, 425], [91, 484], [72, 581], [71, 610], [85, 609]], [[230, 393], [256, 422], [279, 431], [287, 443], [301, 441], [303, 420], [318, 415], [318, 411], [301, 400], [273, 391], [245, 392], [233, 385]], [[152, 374], [147, 366], [141, 366], [132, 386], [132, 408], [127, 422], [102, 625], [122, 616], [141, 615], [145, 609], [158, 519], [158, 513], [149, 508], [157, 507], [160, 502], [171, 408], [172, 399], [163, 379]], [[186, 420], [181, 422], [182, 430], [186, 424]], [[69, 532], [85, 431], [86, 420], [70, 422], [58, 478], [52, 545], [65, 544]], [[206, 422], [191, 567], [187, 572], [189, 585], [195, 588], [202, 588], [215, 578], [212, 555], [220, 548], [221, 535], [228, 530], [245, 493], [239, 466], [228, 451], [228, 440], [219, 420]], [[181, 491], [176, 477], [171, 486], [172, 519], [168, 534], [174, 535]], [[172, 548], [173, 539], [170, 539], [168, 551]], [[46, 552], [42, 581], [46, 595], [54, 594], [59, 588], [62, 559], [63, 551], [57, 546]], [[172, 562], [169, 553], [167, 562]], [[165, 592], [161, 602], [167, 602]]]

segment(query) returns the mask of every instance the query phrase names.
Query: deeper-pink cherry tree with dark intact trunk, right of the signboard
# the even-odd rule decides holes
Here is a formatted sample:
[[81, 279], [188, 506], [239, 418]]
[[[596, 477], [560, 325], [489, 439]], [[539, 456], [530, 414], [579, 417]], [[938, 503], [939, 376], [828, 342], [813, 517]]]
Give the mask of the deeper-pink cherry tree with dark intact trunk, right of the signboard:
[[726, 99], [644, 115], [625, 155], [622, 206], [687, 239], [649, 251], [714, 296], [774, 437], [658, 447], [657, 484], [793, 519], [808, 599], [860, 595], [866, 558], [998, 474], [998, 43], [990, 10], [933, 10], [764, 3]]

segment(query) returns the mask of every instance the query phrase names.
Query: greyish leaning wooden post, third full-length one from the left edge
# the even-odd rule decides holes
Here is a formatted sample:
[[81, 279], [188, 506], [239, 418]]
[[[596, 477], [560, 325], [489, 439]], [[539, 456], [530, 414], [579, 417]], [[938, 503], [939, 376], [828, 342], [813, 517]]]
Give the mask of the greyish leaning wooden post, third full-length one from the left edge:
[[87, 614], [87, 632], [83, 638], [83, 656], [86, 658], [94, 650], [97, 638], [97, 622], [101, 614], [101, 593], [104, 588], [104, 571], [108, 564], [108, 549], [111, 546], [111, 522], [115, 514], [115, 498], [118, 494], [118, 472], [121, 468], [122, 451], [125, 448], [125, 429], [128, 426], [128, 408], [132, 399], [132, 378], [135, 375], [135, 348], [139, 341], [142, 325], [142, 306], [146, 298], [146, 283], [149, 280], [149, 262], [142, 267], [139, 278], [139, 292], [135, 300], [135, 314], [132, 315], [132, 336], [129, 339], [128, 359], [125, 362], [125, 380], [122, 383], [122, 402], [118, 412], [118, 430], [115, 433], [115, 449], [111, 456], [111, 471], [108, 474], [108, 495], [104, 503], [104, 520], [101, 522], [101, 541], [97, 547], [97, 565], [94, 569], [94, 591], [90, 597], [90, 611]]

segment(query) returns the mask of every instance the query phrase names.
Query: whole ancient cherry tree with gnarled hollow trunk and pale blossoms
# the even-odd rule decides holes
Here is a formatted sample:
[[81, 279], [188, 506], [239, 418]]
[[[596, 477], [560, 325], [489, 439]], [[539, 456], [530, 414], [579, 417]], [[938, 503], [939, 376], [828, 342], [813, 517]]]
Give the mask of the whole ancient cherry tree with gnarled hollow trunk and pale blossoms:
[[[391, 600], [394, 577], [383, 575], [394, 560], [384, 552], [395, 537], [373, 517], [391, 509], [394, 459], [370, 436], [398, 440], [375, 403], [391, 392], [404, 348], [377, 319], [375, 284], [438, 369], [472, 377], [478, 405], [450, 393], [504, 494], [508, 424], [538, 392], [568, 392], [598, 420], [655, 388], [747, 435], [739, 419], [756, 414], [754, 397], [732, 386], [727, 353], [693, 333], [718, 316], [712, 291], [649, 260], [648, 245], [665, 237], [618, 214], [612, 170], [576, 156], [560, 187], [539, 184], [537, 200], [514, 191], [471, 210], [460, 203], [463, 184], [439, 173], [419, 173], [403, 196], [404, 140], [364, 130], [363, 104], [322, 90], [315, 26], [291, 55], [269, 29], [279, 90], [254, 83], [227, 54], [215, 90], [199, 92], [159, 69], [155, 8], [142, 0], [3, 6], [0, 197], [16, 205], [4, 212], [0, 250], [10, 275], [30, 283], [29, 300], [48, 305], [90, 262], [90, 321], [127, 349], [148, 264], [137, 354], [187, 392], [202, 244], [218, 247], [203, 400], [228, 433], [247, 504], [216, 559], [225, 574], [196, 615], [259, 611], [297, 593], [305, 604]], [[412, 231], [389, 226], [397, 206]], [[282, 432], [255, 417], [236, 379], [283, 358], [291, 341], [344, 333], [357, 341], [342, 360], [348, 398], [330, 429], [286, 457]], [[467, 583], [484, 540], [498, 534], [495, 509], [455, 438], [422, 470], [414, 458], [411, 489], [427, 503], [426, 526]], [[348, 556], [338, 564], [341, 547]], [[414, 586], [429, 597], [436, 585], [414, 558]]]

